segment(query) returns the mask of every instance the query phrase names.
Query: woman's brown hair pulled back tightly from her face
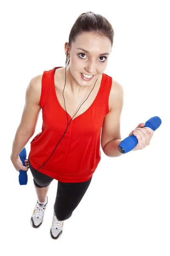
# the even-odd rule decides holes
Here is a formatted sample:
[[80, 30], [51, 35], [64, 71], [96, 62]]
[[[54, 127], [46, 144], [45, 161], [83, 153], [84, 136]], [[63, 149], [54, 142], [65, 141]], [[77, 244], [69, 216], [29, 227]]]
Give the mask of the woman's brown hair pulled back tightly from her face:
[[[113, 46], [113, 36], [114, 31], [111, 23], [100, 14], [95, 14], [94, 12], [85, 12], [79, 15], [74, 25], [71, 28], [69, 35], [69, 47], [73, 42], [76, 41], [76, 38], [82, 34], [83, 32], [94, 32], [101, 37], [107, 37], [111, 41], [111, 48]], [[70, 58], [68, 60], [68, 64], [70, 63]], [[66, 62], [65, 62], [66, 64]]]

